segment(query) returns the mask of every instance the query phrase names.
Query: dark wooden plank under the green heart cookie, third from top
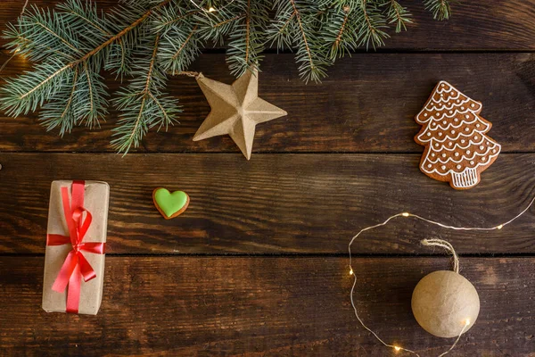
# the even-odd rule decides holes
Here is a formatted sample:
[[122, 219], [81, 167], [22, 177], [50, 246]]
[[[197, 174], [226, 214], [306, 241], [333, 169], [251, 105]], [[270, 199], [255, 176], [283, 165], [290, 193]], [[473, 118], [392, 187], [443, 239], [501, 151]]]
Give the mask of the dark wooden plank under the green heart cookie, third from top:
[[[399, 212], [493, 227], [535, 195], [535, 154], [502, 154], [481, 184], [457, 191], [427, 178], [416, 154], [1, 154], [0, 251], [43, 253], [53, 179], [111, 185], [109, 253], [346, 253], [350, 237]], [[184, 215], [163, 220], [152, 190], [183, 189]], [[531, 211], [532, 212], [532, 211]], [[449, 231], [399, 218], [355, 253], [534, 253], [531, 212], [504, 229]], [[441, 253], [436, 251], [435, 253]]]

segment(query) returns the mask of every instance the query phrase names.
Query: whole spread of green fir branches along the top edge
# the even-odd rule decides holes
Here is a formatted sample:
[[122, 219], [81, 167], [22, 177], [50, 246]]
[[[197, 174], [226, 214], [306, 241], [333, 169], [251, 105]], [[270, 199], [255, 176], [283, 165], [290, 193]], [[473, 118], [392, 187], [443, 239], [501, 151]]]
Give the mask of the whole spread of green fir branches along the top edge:
[[[449, 19], [449, 0], [423, 1], [435, 19]], [[149, 129], [177, 121], [168, 76], [187, 71], [205, 46], [226, 45], [236, 77], [259, 65], [266, 46], [294, 50], [300, 78], [320, 81], [338, 58], [383, 46], [391, 26], [410, 23], [398, 0], [121, 0], [108, 13], [94, 0], [33, 6], [4, 38], [37, 64], [6, 80], [0, 107], [14, 117], [40, 108], [45, 127], [61, 135], [98, 127], [110, 96], [103, 71], [111, 71], [128, 78], [111, 101], [120, 112], [111, 144], [128, 153]]]

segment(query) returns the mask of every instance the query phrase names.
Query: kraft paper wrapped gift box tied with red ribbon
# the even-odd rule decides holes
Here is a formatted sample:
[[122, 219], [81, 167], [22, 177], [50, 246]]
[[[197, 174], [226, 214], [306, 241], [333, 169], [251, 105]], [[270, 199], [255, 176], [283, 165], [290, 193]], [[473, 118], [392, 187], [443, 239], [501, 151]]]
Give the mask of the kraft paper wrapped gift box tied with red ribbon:
[[43, 310], [95, 315], [104, 281], [110, 187], [53, 181], [46, 231]]

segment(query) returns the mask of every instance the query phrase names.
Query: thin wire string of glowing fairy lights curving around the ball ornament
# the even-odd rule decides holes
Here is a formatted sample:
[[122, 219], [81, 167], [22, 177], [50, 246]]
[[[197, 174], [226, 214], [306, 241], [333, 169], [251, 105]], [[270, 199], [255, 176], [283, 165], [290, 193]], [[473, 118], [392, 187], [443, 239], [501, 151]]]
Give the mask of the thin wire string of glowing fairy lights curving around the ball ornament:
[[[413, 213], [410, 213], [410, 212], [401, 212], [401, 213], [394, 214], [393, 216], [391, 216], [388, 219], [384, 220], [382, 223], [375, 224], [374, 226], [369, 226], [369, 227], [361, 229], [357, 233], [357, 235], [355, 235], [350, 240], [350, 244], [348, 245], [348, 250], [349, 250], [349, 253], [350, 253], [350, 275], [353, 277], [353, 285], [351, 286], [350, 300], [351, 300], [351, 306], [353, 307], [353, 311], [355, 312], [355, 317], [357, 318], [357, 320], [360, 323], [360, 325], [362, 325], [363, 328], [365, 328], [369, 333], [371, 333], [375, 337], [375, 339], [377, 339], [381, 344], [383, 344], [384, 346], [386, 346], [388, 348], [393, 349], [396, 353], [402, 351], [402, 352], [407, 352], [407, 353], [414, 354], [414, 355], [416, 355], [416, 357], [420, 357], [420, 355], [418, 353], [416, 353], [415, 351], [413, 351], [413, 350], [404, 348], [404, 347], [402, 347], [400, 345], [393, 345], [393, 344], [389, 344], [389, 343], [384, 342], [383, 339], [379, 335], [377, 335], [377, 333], [374, 332], [374, 330], [372, 330], [371, 328], [368, 328], [366, 326], [364, 321], [358, 315], [357, 305], [355, 303], [355, 299], [353, 298], [353, 295], [354, 295], [354, 292], [355, 292], [355, 287], [357, 286], [357, 275], [355, 274], [355, 270], [353, 270], [353, 266], [352, 266], [353, 260], [352, 260], [352, 256], [351, 256], [351, 245], [355, 242], [355, 240], [362, 233], [364, 233], [364, 232], [366, 232], [368, 230], [372, 230], [374, 228], [379, 228], [379, 227], [386, 226], [391, 220], [394, 220], [394, 219], [396, 219], [398, 217], [414, 218], [416, 220], [423, 220], [424, 222], [430, 223], [432, 225], [439, 226], [441, 228], [446, 228], [446, 229], [453, 229], [453, 230], [483, 230], [483, 231], [489, 231], [489, 230], [502, 229], [502, 228], [506, 227], [506, 225], [512, 223], [514, 220], [517, 220], [518, 218], [520, 218], [525, 212], [528, 212], [530, 210], [531, 206], [533, 205], [533, 203], [535, 203], [535, 197], [533, 197], [533, 199], [531, 199], [530, 204], [528, 204], [528, 206], [522, 212], [520, 212], [516, 216], [514, 216], [514, 218], [512, 218], [511, 220], [507, 220], [506, 222], [500, 223], [497, 226], [493, 226], [493, 227], [489, 227], [489, 228], [484, 228], [484, 227], [455, 227], [455, 226], [450, 226], [450, 225], [447, 225], [447, 224], [444, 224], [444, 223], [440, 223], [440, 222], [435, 221], [435, 220], [429, 220], [429, 219], [426, 219], [424, 217], [421, 217], [421, 216], [419, 216], [417, 214], [413, 214]], [[440, 240], [440, 242], [441, 242], [441, 244], [432, 244], [432, 245], [443, 246], [446, 249], [449, 249], [449, 250], [452, 251], [452, 253], [454, 255], [454, 258], [457, 256], [455, 251], [453, 251], [453, 247], [451, 247], [451, 245], [449, 245], [449, 243], [447, 243], [445, 241], [441, 241], [441, 240]], [[457, 261], [458, 261], [458, 258], [457, 258]], [[458, 271], [458, 262], [457, 262], [457, 264], [454, 265], [454, 270]], [[463, 328], [461, 329], [461, 332], [457, 336], [457, 339], [455, 340], [453, 345], [451, 345], [449, 347], [448, 351], [446, 351], [444, 353], [441, 353], [438, 357], [442, 357], [442, 356], [448, 354], [449, 352], [451, 352], [451, 350], [453, 350], [455, 348], [455, 346], [459, 342], [459, 339], [461, 338], [461, 335], [463, 335], [465, 333], [466, 328], [468, 328], [468, 326], [470, 326], [470, 323], [471, 323], [471, 321], [469, 319], [465, 319], [464, 321], [460, 321], [460, 322], [462, 322], [464, 325], [463, 325]]]

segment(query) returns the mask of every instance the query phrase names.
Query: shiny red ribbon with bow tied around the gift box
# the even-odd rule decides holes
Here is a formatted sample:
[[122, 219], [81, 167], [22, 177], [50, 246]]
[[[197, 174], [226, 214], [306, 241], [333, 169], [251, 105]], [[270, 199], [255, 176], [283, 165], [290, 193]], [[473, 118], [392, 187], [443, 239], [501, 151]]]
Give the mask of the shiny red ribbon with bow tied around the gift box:
[[[69, 237], [49, 234], [46, 236], [46, 245], [72, 245], [72, 250], [65, 258], [62, 269], [53, 282], [52, 289], [58, 293], [63, 293], [67, 286], [67, 312], [78, 313], [80, 301], [80, 287], [82, 277], [84, 281], [96, 278], [95, 270], [87, 262], [82, 252], [104, 253], [104, 243], [82, 243], [86, 236], [87, 229], [91, 225], [93, 217], [84, 207], [84, 191], [86, 183], [84, 181], [72, 181], [72, 198], [69, 203], [69, 187], [62, 187], [63, 213], [69, 228]], [[86, 218], [83, 219], [84, 212]]]

